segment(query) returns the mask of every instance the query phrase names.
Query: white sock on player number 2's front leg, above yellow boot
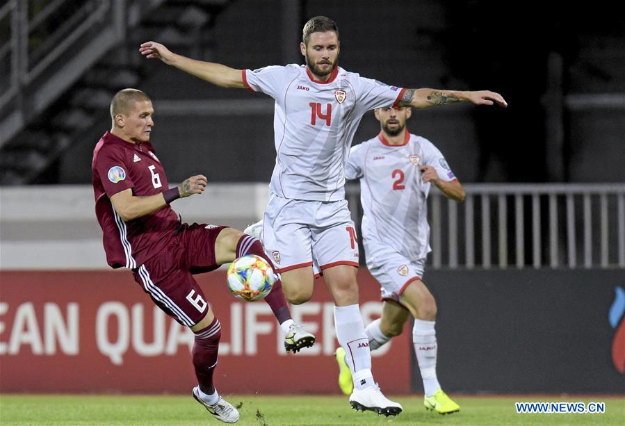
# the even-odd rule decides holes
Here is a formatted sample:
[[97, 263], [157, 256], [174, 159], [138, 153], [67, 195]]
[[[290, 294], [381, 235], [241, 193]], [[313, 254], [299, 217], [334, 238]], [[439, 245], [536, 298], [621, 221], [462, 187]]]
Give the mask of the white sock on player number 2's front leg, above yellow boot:
[[425, 396], [431, 396], [441, 388], [436, 377], [436, 331], [435, 321], [423, 321], [414, 319], [412, 327], [412, 343], [416, 353], [416, 361], [419, 363], [421, 378], [423, 379], [423, 391]]

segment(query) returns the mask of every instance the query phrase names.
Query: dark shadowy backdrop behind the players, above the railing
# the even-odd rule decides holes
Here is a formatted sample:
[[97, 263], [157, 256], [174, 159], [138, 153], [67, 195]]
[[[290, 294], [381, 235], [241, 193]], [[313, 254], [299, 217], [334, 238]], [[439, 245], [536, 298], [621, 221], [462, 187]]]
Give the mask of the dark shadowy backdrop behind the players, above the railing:
[[[275, 158], [272, 99], [216, 88], [145, 60], [138, 44], [161, 41], [180, 54], [235, 68], [301, 63], [301, 28], [314, 15], [336, 20], [339, 63], [350, 71], [409, 88], [494, 90], [507, 99], [506, 109], [462, 104], [413, 114], [410, 131], [434, 142], [461, 181], [625, 181], [625, 22], [614, 3], [234, 0], [216, 2], [206, 24], [184, 37], [154, 23], [170, 19], [181, 33], [188, 24], [179, 23], [172, 5], [185, 3], [211, 2], [165, 1], [152, 21], [129, 26], [124, 41], [96, 66], [125, 61], [138, 69], [134, 81], [109, 78], [109, 92], [133, 84], [152, 97], [153, 142], [170, 181], [196, 172], [211, 181], [268, 181]], [[90, 74], [86, 70], [81, 84]], [[68, 90], [42, 113], [39, 128], [47, 131], [73, 95]], [[93, 123], [24, 183], [90, 181], [92, 147], [110, 129], [106, 99], [90, 110]], [[167, 108], [170, 101], [189, 100], [216, 111]], [[264, 110], [246, 112], [245, 106], [263, 101]], [[378, 130], [368, 113], [355, 142]], [[31, 142], [24, 138], [12, 143]]]

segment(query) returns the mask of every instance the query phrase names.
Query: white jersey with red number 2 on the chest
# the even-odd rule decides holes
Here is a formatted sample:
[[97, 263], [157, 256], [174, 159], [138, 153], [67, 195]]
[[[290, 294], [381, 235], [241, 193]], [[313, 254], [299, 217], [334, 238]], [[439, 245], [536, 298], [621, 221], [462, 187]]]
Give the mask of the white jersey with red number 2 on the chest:
[[389, 145], [380, 133], [352, 147], [346, 178], [360, 179], [364, 240], [373, 247], [375, 242], [389, 245], [417, 261], [430, 252], [426, 199], [431, 183], [423, 182], [419, 167], [435, 167], [444, 181], [455, 175], [432, 142], [408, 131], [405, 135], [404, 145]]

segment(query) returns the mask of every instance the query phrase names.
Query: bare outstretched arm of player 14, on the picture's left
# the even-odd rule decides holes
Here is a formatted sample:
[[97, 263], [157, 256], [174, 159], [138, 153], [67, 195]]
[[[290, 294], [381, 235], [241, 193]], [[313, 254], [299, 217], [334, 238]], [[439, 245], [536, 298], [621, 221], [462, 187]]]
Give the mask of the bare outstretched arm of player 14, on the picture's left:
[[145, 42], [141, 44], [139, 51], [146, 58], [160, 59], [167, 65], [173, 65], [184, 72], [188, 72], [222, 88], [245, 88], [241, 69], [234, 69], [218, 63], [195, 60], [174, 54], [163, 44], [157, 42]]

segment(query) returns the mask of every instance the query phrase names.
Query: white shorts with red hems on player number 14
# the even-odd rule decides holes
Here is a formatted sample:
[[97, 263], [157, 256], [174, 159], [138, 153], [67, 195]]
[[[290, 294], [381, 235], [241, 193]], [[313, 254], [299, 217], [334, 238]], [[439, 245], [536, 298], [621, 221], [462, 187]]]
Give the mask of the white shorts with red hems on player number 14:
[[358, 241], [346, 200], [307, 201], [270, 192], [263, 220], [263, 245], [277, 272], [313, 262], [320, 270], [358, 267]]

